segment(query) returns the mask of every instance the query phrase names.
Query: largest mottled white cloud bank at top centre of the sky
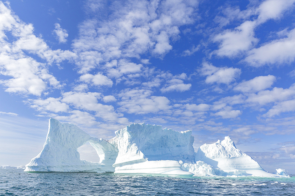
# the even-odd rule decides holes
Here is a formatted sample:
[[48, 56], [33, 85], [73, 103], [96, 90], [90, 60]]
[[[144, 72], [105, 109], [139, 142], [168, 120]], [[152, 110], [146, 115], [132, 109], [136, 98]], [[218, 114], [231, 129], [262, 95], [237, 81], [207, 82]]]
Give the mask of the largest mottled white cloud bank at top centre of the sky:
[[[104, 5], [91, 1], [86, 5], [91, 6], [91, 13], [88, 14], [93, 18], [83, 21], [79, 27], [79, 38], [73, 42], [74, 50], [80, 57], [77, 61], [80, 73], [113, 60], [128, 62], [130, 58], [140, 59], [140, 55], [148, 52], [155, 56], [165, 55], [172, 49], [171, 41], [178, 39], [179, 27], [194, 21], [198, 2], [137, 0]], [[101, 10], [109, 13], [108, 20], [96, 19], [97, 12]], [[139, 72], [138, 65], [136, 67]], [[130, 70], [130, 67], [119, 66], [112, 69], [118, 68], [117, 77]], [[115, 71], [112, 73], [114, 75]]]

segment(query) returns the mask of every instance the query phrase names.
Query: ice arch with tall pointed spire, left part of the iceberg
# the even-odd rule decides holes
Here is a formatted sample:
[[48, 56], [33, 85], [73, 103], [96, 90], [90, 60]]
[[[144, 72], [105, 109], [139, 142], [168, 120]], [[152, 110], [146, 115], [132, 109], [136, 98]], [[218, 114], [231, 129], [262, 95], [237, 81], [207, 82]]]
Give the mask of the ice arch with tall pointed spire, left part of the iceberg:
[[[77, 148], [89, 142], [99, 155], [99, 163], [80, 160]], [[118, 155], [114, 145], [69, 123], [49, 119], [48, 133], [42, 151], [32, 158], [24, 171], [39, 172], [114, 172]]]

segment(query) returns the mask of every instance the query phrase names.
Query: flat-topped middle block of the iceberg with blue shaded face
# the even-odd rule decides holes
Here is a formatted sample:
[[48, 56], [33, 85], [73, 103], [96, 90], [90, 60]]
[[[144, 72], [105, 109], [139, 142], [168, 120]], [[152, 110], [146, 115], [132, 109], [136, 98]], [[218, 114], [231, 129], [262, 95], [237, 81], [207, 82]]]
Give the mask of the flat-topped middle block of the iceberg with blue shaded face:
[[179, 160], [194, 161], [191, 130], [177, 132], [160, 125], [133, 123], [117, 130], [109, 140], [117, 146], [115, 173], [192, 176]]

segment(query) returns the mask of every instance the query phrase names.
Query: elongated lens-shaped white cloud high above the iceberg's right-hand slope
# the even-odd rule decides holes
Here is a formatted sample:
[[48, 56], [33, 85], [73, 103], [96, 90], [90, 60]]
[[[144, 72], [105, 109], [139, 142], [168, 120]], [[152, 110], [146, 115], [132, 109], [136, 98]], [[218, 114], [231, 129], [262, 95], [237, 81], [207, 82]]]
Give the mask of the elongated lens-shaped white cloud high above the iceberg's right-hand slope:
[[257, 76], [251, 80], [244, 81], [237, 86], [235, 86], [235, 91], [241, 91], [243, 93], [257, 92], [264, 90], [272, 86], [273, 82], [276, 80], [275, 76]]

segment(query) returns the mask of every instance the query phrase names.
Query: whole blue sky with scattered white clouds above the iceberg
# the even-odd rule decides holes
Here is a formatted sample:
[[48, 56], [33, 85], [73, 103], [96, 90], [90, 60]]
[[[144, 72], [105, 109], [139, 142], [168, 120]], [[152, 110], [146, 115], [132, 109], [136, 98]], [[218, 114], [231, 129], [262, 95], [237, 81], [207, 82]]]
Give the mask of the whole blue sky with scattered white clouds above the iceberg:
[[110, 139], [131, 123], [229, 135], [295, 174], [295, 0], [0, 1], [0, 165], [49, 118]]

